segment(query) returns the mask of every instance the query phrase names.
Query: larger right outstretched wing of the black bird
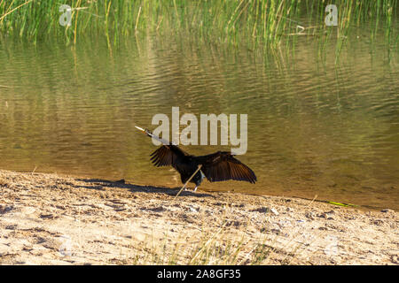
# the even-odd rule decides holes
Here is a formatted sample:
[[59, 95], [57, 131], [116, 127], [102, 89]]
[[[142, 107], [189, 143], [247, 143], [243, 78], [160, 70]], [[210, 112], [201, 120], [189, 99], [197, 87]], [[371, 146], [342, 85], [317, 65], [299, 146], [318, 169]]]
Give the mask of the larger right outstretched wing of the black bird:
[[202, 164], [201, 171], [211, 182], [221, 180], [245, 180], [253, 184], [256, 182], [256, 176], [251, 168], [234, 158], [230, 152], [218, 151], [196, 159]]

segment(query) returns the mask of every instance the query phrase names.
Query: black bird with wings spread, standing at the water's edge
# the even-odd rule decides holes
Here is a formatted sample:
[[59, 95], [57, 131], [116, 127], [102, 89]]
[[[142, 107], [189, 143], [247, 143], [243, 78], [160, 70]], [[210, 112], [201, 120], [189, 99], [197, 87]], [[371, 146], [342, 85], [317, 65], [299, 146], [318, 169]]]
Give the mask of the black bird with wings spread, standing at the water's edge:
[[246, 164], [234, 158], [231, 152], [217, 151], [207, 156], [195, 157], [180, 149], [175, 144], [154, 135], [150, 130], [136, 127], [148, 136], [163, 143], [159, 149], [156, 149], [151, 154], [151, 161], [155, 166], [171, 165], [180, 173], [183, 183], [190, 180], [192, 174], [198, 171], [192, 177], [192, 180], [190, 180], [190, 182], [195, 184], [194, 191], [197, 190], [197, 187], [200, 186], [205, 177], [210, 182], [222, 180], [245, 180], [253, 184], [256, 182], [254, 172]]

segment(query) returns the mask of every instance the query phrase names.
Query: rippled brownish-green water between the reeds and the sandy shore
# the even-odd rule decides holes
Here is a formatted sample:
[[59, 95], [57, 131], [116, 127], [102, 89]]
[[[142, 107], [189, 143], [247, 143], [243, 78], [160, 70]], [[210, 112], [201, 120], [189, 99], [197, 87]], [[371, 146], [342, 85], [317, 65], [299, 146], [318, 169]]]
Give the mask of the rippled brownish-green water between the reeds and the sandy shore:
[[198, 118], [247, 113], [239, 159], [258, 182], [201, 188], [398, 210], [397, 50], [366, 38], [349, 40], [339, 65], [333, 44], [323, 55], [311, 38], [274, 53], [184, 36], [112, 48], [0, 42], [0, 168], [178, 187], [175, 171], [150, 163], [156, 147], [134, 126], [155, 128], [153, 115], [171, 119], [172, 106]]

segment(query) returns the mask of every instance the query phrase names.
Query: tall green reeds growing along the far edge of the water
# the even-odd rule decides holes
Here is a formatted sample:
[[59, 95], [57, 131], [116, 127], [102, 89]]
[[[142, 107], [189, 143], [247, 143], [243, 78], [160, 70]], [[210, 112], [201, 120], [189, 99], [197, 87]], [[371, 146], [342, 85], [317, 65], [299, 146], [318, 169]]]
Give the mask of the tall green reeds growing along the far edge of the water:
[[[72, 10], [61, 9], [63, 4]], [[325, 25], [328, 4], [337, 7], [337, 26]], [[33, 42], [57, 37], [76, 43], [83, 35], [100, 34], [112, 43], [132, 34], [189, 33], [273, 47], [293, 35], [344, 40], [353, 29], [368, 27], [372, 39], [381, 34], [389, 45], [397, 45], [396, 16], [396, 0], [0, 0], [0, 35]]]

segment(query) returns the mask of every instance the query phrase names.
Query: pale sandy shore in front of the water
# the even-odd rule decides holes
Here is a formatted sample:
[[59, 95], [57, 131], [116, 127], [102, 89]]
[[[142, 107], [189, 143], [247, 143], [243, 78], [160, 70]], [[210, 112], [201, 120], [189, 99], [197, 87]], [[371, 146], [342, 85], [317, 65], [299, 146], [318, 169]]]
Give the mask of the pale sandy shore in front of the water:
[[0, 170], [0, 264], [399, 264], [393, 210], [176, 192]]

